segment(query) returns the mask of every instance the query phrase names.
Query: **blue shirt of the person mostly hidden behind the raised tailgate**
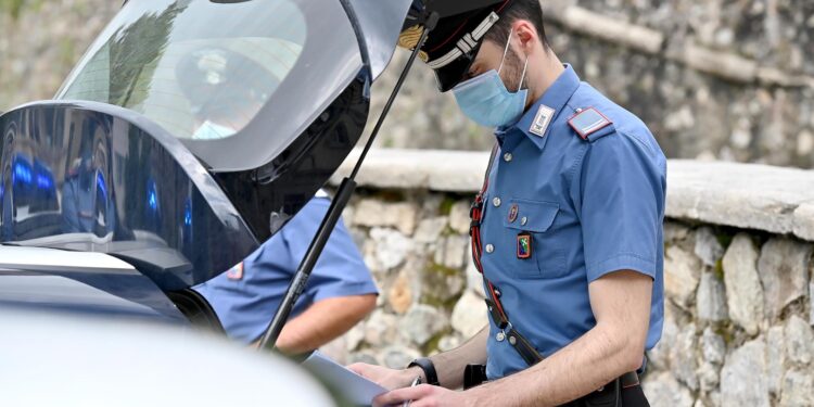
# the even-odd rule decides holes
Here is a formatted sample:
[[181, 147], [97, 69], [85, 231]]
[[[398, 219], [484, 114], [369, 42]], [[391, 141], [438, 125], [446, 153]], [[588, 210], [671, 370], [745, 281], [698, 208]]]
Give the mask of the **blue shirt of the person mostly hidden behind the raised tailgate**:
[[[252, 343], [263, 335], [329, 205], [327, 198], [311, 199], [241, 265], [194, 288], [209, 302], [230, 338]], [[291, 318], [320, 300], [376, 293], [370, 271], [340, 219]]]

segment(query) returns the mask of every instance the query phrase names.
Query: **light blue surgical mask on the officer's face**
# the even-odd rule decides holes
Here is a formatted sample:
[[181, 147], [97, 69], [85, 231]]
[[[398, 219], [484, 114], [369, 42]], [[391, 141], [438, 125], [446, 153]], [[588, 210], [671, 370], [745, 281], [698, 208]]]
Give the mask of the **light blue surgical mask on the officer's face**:
[[[453, 88], [458, 106], [469, 118], [475, 123], [487, 127], [509, 126], [517, 123], [525, 111], [525, 100], [529, 97], [529, 89], [518, 89], [517, 92], [509, 92], [506, 85], [500, 79], [500, 71], [506, 62], [506, 55], [509, 52], [509, 43], [506, 42], [504, 59], [500, 61], [500, 67], [497, 71], [491, 69], [474, 78], [462, 81]], [[523, 75], [520, 77], [520, 86], [525, 79], [525, 69], [529, 66], [529, 58], [525, 59]]]

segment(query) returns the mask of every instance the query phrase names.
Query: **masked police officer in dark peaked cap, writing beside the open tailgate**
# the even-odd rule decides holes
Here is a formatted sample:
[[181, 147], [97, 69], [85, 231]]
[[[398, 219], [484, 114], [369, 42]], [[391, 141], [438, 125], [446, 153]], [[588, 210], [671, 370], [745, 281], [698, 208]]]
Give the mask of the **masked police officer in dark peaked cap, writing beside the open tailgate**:
[[[378, 406], [646, 406], [637, 370], [662, 329], [664, 155], [560, 62], [538, 0], [493, 3], [442, 18], [421, 50], [441, 90], [497, 128], [472, 207], [488, 327], [404, 370], [351, 368], [393, 390]], [[487, 383], [449, 390], [479, 372]], [[409, 386], [416, 377], [429, 384]]]

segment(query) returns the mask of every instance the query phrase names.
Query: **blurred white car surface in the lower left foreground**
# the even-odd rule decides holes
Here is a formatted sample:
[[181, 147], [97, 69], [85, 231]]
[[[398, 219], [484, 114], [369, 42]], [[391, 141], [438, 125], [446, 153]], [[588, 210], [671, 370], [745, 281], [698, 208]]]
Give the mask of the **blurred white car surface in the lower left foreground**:
[[335, 405], [293, 363], [191, 330], [2, 307], [0, 327], [2, 406]]

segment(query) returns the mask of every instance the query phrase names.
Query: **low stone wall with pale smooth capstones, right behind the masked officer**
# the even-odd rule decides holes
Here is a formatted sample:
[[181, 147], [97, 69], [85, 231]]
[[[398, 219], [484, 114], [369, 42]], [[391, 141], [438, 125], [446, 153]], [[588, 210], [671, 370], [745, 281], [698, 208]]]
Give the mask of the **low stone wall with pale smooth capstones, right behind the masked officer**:
[[[371, 152], [344, 219], [381, 296], [328, 353], [403, 367], [486, 323], [468, 238], [486, 161]], [[665, 323], [644, 381], [651, 405], [814, 405], [814, 191], [803, 188], [814, 174], [674, 161], [667, 183]]]

